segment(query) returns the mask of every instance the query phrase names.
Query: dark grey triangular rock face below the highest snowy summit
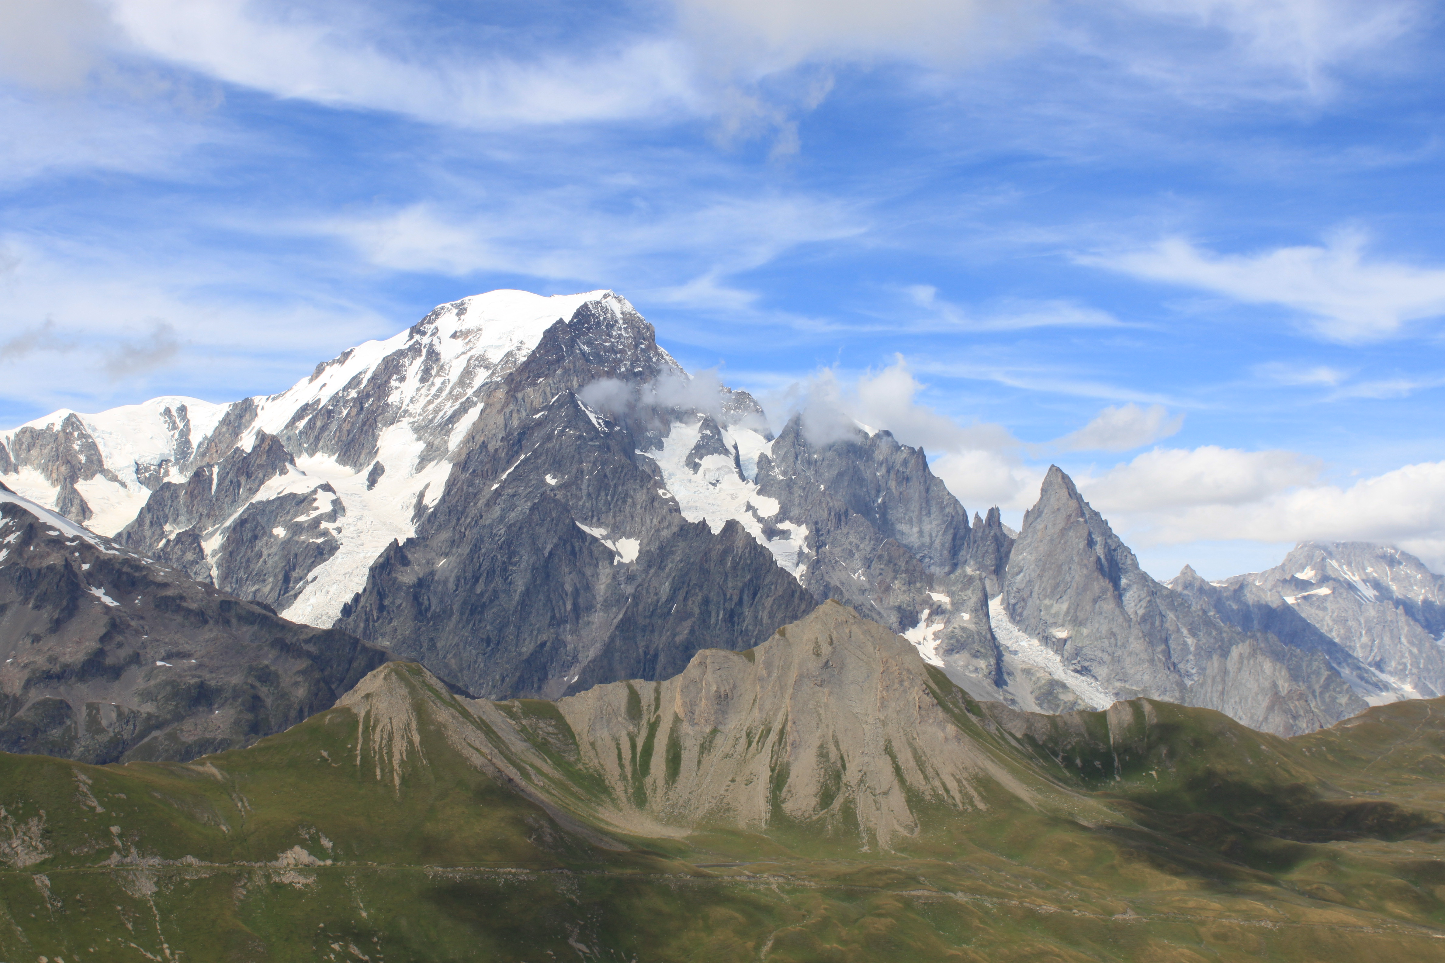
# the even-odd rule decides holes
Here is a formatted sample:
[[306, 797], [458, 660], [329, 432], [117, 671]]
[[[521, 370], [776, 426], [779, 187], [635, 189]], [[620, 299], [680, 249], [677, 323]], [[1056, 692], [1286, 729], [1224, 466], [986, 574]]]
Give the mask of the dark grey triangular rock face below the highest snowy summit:
[[812, 609], [741, 526], [679, 511], [640, 450], [679, 411], [582, 400], [604, 380], [665, 375], [681, 377], [676, 362], [626, 302], [552, 325], [490, 385], [445, 491], [337, 625], [478, 694], [559, 696], [675, 674], [699, 648], [749, 647]]

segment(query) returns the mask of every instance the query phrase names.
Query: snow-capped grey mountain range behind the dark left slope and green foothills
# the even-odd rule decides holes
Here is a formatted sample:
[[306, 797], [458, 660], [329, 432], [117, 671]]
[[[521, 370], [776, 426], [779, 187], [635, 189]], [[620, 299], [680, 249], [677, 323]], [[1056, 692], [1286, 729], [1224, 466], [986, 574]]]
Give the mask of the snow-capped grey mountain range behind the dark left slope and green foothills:
[[[1306, 638], [1155, 582], [1058, 469], [1012, 533], [997, 510], [970, 523], [886, 430], [815, 439], [795, 417], [775, 437], [613, 292], [478, 295], [276, 396], [0, 437], [17, 491], [490, 697], [665, 679], [824, 599], [975, 696], [1046, 712], [1146, 694], [1302, 732], [1435, 671], [1426, 629], [1381, 661], [1384, 642], [1337, 638], [1348, 614]], [[1295, 588], [1289, 611], [1328, 598]], [[1438, 614], [1429, 591], [1412, 612]]]

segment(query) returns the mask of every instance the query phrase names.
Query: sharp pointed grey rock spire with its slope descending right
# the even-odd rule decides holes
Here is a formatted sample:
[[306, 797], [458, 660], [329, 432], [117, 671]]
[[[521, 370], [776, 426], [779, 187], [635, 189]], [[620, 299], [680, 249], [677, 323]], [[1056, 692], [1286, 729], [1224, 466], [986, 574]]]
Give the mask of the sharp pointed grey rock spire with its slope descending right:
[[1058, 468], [1012, 546], [994, 616], [1010, 655], [1033, 663], [1012, 680], [1019, 703], [1048, 712], [1147, 694], [1292, 735], [1367, 705], [1337, 668], [1358, 679], [1347, 653], [1241, 629], [1155, 582]]

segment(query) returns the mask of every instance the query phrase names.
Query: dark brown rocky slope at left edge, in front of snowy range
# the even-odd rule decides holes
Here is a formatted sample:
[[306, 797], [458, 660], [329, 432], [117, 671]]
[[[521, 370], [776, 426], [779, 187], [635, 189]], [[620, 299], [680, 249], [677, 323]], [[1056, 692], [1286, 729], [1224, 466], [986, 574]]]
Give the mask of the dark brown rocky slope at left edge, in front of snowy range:
[[329, 707], [386, 653], [0, 488], [0, 751], [189, 759]]

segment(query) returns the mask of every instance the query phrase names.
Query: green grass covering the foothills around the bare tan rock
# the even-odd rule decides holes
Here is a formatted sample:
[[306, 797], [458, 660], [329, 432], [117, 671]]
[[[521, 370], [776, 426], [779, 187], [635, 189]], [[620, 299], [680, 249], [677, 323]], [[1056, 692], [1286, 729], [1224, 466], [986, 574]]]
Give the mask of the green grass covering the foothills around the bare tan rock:
[[[436, 709], [399, 774], [345, 707], [189, 765], [0, 755], [0, 960], [1445, 957], [1445, 702], [1298, 739], [1137, 702], [1113, 733], [1081, 713], [1016, 738], [932, 687], [1033, 796], [910, 796], [919, 832], [887, 850], [847, 807], [776, 804], [767, 832], [601, 826], [627, 846], [605, 849], [468, 762]], [[500, 707], [564, 774], [552, 798], [617, 804], [555, 706]], [[626, 707], [629, 771], [676, 778], [670, 715]]]

